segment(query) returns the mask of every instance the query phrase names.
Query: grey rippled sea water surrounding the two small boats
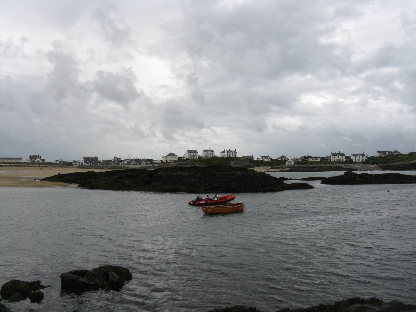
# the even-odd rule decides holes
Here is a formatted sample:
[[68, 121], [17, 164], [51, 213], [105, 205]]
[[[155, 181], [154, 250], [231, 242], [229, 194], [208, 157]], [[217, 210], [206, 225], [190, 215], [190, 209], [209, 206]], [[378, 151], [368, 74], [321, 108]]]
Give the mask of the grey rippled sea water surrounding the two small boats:
[[[416, 303], [416, 185], [308, 183], [316, 188], [237, 194], [247, 210], [229, 215], [188, 206], [195, 194], [0, 188], [0, 283], [53, 285], [42, 304], [5, 303], [14, 312]], [[60, 290], [62, 272], [105, 264], [128, 267], [133, 280], [121, 292]]]

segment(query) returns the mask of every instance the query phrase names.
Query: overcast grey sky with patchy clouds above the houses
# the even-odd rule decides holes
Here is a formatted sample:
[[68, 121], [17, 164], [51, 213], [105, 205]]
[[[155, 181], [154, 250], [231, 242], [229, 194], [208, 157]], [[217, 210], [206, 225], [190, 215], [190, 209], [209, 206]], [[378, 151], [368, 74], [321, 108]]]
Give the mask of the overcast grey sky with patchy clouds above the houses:
[[414, 1], [0, 1], [0, 156], [416, 147]]

